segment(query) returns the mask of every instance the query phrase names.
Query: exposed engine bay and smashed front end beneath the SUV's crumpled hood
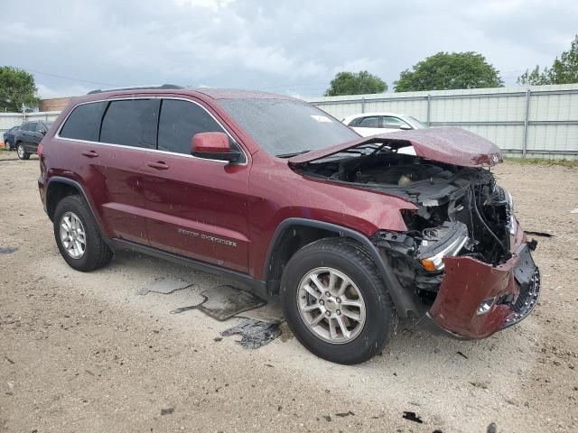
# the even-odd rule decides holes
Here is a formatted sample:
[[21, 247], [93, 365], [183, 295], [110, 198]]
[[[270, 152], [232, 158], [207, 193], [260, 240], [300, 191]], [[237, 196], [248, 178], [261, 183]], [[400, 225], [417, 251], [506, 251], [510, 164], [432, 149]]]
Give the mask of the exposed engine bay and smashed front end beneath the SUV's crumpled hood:
[[406, 198], [418, 207], [403, 211], [406, 233], [381, 231], [373, 239], [387, 250], [403, 285], [433, 295], [442, 279], [443, 256], [468, 255], [493, 266], [511, 256], [510, 234], [517, 228], [512, 198], [487, 169], [396, 152], [325, 159], [300, 169], [308, 176]]

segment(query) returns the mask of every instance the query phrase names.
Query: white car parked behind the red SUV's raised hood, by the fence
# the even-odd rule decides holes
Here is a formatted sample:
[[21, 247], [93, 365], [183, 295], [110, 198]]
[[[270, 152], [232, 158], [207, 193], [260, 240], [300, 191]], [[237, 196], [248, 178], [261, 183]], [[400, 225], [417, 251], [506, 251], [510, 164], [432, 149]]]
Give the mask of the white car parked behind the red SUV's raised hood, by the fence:
[[[425, 124], [422, 124], [411, 115], [397, 115], [395, 113], [361, 113], [359, 115], [348, 115], [341, 122], [350, 126], [353, 131], [363, 137], [427, 128]], [[413, 147], [404, 147], [400, 149], [399, 152], [415, 155]]]

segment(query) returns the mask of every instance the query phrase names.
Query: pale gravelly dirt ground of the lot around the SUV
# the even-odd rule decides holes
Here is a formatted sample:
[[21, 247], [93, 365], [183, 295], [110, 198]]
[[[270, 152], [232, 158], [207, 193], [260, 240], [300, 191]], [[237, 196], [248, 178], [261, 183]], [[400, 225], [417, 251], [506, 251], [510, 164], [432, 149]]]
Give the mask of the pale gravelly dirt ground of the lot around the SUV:
[[[236, 318], [169, 314], [217, 277], [129, 253], [72, 271], [42, 211], [38, 161], [14, 158], [0, 152], [0, 246], [18, 248], [0, 253], [0, 431], [578, 431], [576, 169], [497, 170], [522, 225], [555, 235], [538, 238], [530, 318], [478, 342], [402, 324], [383, 355], [346, 367], [287, 335], [257, 350], [216, 341]], [[136, 294], [164, 277], [192, 286]]]

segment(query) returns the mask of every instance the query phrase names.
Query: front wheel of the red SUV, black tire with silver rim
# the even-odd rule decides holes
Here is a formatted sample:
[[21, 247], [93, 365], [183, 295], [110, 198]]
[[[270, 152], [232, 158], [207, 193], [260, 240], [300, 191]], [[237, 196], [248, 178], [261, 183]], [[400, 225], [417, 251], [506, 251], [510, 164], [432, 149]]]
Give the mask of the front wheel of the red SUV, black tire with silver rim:
[[[319, 277], [315, 279], [323, 290], [333, 279], [331, 296], [319, 292], [312, 275]], [[340, 296], [338, 289], [343, 284], [347, 289]], [[305, 286], [313, 286], [320, 298], [315, 299]], [[397, 324], [396, 309], [370, 256], [359, 244], [342, 238], [322, 239], [294, 254], [284, 268], [281, 300], [284, 317], [299, 342], [314, 355], [337, 364], [368, 361], [387, 345]], [[353, 307], [356, 303], [363, 309]], [[323, 314], [326, 316], [321, 318]], [[332, 334], [329, 323], [335, 329]]]

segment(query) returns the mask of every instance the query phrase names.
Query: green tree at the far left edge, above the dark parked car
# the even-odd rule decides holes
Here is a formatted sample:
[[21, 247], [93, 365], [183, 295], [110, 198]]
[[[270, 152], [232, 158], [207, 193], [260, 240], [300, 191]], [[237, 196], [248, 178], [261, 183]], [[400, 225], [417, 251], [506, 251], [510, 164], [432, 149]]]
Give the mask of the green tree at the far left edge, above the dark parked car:
[[20, 112], [38, 106], [40, 98], [32, 74], [11, 66], [0, 67], [0, 111]]

